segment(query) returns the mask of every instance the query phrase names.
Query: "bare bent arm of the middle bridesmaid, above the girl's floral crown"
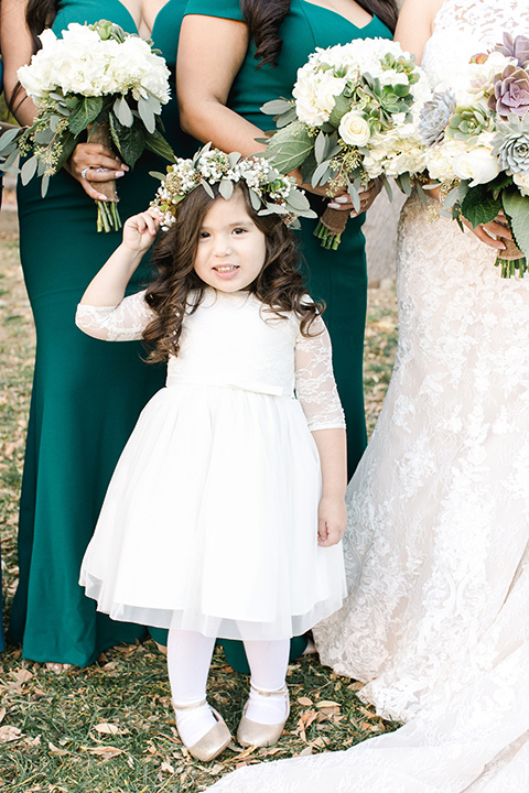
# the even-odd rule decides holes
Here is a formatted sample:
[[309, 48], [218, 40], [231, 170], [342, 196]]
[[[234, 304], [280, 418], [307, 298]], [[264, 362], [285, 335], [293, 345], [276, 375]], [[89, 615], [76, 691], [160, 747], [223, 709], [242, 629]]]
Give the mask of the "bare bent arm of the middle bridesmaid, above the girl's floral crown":
[[227, 107], [248, 50], [245, 22], [188, 14], [179, 42], [176, 93], [184, 132], [223, 151], [244, 155], [266, 149], [262, 131]]

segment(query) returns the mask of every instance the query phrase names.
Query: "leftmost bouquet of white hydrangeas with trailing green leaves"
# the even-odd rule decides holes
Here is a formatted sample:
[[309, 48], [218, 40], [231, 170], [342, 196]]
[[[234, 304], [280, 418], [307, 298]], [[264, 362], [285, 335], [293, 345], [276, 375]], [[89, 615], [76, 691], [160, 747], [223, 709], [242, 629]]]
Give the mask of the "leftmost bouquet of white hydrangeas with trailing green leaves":
[[[4, 141], [3, 170], [13, 165], [19, 153], [31, 154], [22, 165], [21, 180], [26, 184], [36, 173], [44, 196], [50, 177], [86, 131], [88, 141], [108, 146], [114, 142], [131, 167], [145, 148], [174, 160], [160, 120], [170, 97], [170, 72], [151, 42], [107, 20], [93, 25], [71, 23], [62, 39], [45, 30], [40, 39], [42, 50], [18, 72], [39, 115], [14, 140], [11, 135]], [[116, 184], [109, 182], [99, 189], [108, 202], [96, 202], [97, 230], [120, 228]]]

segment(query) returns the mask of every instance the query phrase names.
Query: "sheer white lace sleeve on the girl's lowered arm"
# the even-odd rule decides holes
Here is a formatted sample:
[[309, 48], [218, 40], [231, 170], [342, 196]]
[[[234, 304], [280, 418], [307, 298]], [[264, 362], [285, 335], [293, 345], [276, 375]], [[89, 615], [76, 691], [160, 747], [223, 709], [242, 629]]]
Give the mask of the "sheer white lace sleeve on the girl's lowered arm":
[[295, 393], [311, 431], [345, 427], [333, 373], [331, 337], [322, 318], [314, 321], [310, 333], [298, 334], [295, 341]]

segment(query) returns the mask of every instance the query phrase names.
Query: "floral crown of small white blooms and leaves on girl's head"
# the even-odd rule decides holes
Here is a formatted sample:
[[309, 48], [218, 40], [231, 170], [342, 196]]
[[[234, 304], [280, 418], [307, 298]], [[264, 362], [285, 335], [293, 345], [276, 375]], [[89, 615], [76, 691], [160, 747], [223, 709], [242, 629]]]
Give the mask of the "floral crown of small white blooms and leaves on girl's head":
[[177, 157], [168, 165], [168, 173], [152, 174], [162, 184], [151, 206], [162, 214], [162, 229], [169, 229], [175, 221], [177, 205], [194, 189], [202, 186], [215, 198], [210, 185], [218, 184], [223, 198], [229, 199], [237, 182], [245, 182], [250, 202], [258, 215], [282, 215], [288, 226], [299, 226], [299, 217], [316, 217], [309, 200], [295, 180], [282, 176], [270, 163], [260, 156], [241, 159], [238, 152], [226, 154], [212, 149], [207, 143], [192, 160]]

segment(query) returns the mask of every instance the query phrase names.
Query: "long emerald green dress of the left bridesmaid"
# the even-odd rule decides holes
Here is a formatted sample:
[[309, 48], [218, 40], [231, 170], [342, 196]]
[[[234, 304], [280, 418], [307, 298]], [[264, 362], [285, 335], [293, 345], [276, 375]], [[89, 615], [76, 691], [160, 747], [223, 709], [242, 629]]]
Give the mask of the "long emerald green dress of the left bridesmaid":
[[[174, 68], [185, 0], [169, 0], [152, 39], [172, 69], [165, 134], [176, 155], [196, 148], [180, 131]], [[109, 19], [137, 29], [119, 0], [65, 0], [53, 29]], [[125, 220], [143, 210], [158, 182], [149, 171], [165, 163], [145, 153], [118, 180]], [[144, 628], [111, 621], [78, 586], [80, 562], [91, 537], [108, 481], [140, 411], [164, 383], [164, 367], [145, 363], [139, 343], [89, 338], [74, 323], [76, 305], [91, 278], [121, 240], [96, 232], [96, 206], [66, 172], [19, 189], [20, 250], [36, 326], [36, 363], [19, 528], [20, 583], [9, 636], [23, 658], [85, 666], [118, 642], [133, 642]], [[150, 276], [137, 272], [130, 291]]]

